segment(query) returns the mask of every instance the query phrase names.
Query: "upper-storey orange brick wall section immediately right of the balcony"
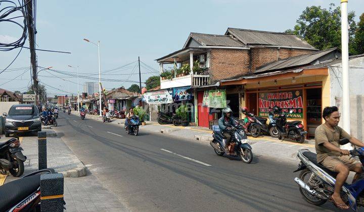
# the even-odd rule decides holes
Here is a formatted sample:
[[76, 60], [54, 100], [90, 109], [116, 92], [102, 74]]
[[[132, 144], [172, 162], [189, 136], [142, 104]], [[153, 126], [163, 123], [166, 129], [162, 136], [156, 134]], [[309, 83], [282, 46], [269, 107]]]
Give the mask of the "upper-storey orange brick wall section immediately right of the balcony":
[[249, 71], [249, 50], [211, 49], [210, 76], [212, 81], [226, 79]]

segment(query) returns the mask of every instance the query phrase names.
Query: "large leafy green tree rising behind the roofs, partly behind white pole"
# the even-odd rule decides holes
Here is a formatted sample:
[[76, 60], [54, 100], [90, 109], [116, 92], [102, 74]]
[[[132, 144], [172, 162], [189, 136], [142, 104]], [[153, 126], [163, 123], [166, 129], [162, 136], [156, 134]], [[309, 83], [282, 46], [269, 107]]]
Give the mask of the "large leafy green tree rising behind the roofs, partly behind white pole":
[[[329, 9], [321, 6], [306, 7], [296, 21], [293, 33], [317, 49], [341, 47], [341, 11], [340, 7], [330, 4]], [[355, 12], [348, 13], [349, 22], [349, 54], [355, 54], [354, 35], [356, 24]]]

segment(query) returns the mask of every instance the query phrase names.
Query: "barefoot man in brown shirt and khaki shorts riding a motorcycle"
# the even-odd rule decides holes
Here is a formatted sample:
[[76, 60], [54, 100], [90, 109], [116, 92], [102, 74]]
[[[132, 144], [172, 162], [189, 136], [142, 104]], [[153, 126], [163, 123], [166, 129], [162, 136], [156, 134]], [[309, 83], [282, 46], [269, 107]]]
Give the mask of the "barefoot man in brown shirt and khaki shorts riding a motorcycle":
[[360, 147], [364, 147], [364, 144], [338, 127], [340, 114], [337, 107], [326, 107], [323, 118], [325, 124], [317, 127], [315, 131], [317, 162], [329, 170], [339, 173], [336, 177], [335, 191], [331, 199], [340, 209], [348, 209], [349, 206], [340, 197], [340, 190], [349, 175], [349, 171], [356, 172], [355, 180], [359, 176], [358, 173], [362, 172], [362, 165], [354, 158], [350, 158], [349, 150], [340, 149], [339, 140], [347, 138], [350, 143]]

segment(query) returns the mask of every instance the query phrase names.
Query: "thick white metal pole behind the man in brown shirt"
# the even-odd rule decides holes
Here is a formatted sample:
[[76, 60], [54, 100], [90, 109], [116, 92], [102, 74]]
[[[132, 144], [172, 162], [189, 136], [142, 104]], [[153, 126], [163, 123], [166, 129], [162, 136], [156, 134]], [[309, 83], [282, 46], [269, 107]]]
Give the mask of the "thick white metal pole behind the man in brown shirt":
[[[350, 134], [349, 26], [347, 4], [348, 0], [341, 0], [342, 117], [344, 130]], [[345, 149], [352, 149], [350, 143], [343, 147]]]

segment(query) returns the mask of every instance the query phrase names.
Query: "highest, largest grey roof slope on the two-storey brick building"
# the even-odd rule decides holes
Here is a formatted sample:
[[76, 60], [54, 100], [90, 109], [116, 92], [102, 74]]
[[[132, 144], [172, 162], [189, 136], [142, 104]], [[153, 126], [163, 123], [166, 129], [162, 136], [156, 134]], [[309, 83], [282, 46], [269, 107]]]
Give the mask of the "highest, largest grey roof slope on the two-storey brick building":
[[280, 45], [315, 49], [309, 43], [300, 39], [296, 35], [282, 32], [228, 28], [225, 35], [229, 34], [236, 36], [245, 45]]

